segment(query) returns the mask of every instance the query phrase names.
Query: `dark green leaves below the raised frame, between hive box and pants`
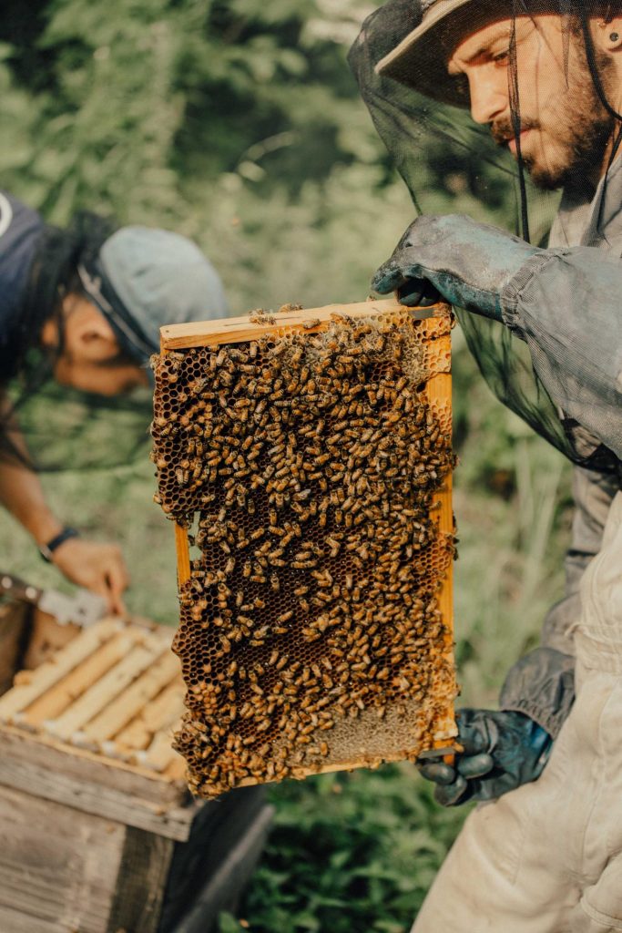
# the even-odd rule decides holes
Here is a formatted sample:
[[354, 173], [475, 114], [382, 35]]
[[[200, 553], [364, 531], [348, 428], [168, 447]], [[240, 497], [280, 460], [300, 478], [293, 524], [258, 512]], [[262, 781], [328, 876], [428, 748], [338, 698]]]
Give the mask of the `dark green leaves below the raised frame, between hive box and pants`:
[[[240, 915], [254, 933], [407, 933], [464, 814], [412, 765], [272, 790], [266, 856]], [[231, 916], [221, 933], [240, 930]]]

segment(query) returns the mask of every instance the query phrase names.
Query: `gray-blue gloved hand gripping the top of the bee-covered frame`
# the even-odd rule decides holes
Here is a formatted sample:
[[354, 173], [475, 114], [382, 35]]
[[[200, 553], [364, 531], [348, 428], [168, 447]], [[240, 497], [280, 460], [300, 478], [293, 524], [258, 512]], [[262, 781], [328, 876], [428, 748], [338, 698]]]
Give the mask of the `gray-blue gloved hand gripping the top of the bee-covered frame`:
[[543, 252], [467, 216], [422, 216], [410, 224], [371, 286], [381, 295], [397, 291], [410, 307], [433, 304], [440, 295], [449, 304], [502, 320], [505, 285]]

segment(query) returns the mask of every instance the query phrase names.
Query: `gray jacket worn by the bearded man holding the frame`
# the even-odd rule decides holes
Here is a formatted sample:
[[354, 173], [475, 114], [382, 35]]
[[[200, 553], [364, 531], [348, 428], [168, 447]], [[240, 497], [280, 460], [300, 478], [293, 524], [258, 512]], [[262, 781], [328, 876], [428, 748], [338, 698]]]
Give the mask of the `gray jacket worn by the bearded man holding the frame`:
[[[622, 158], [591, 202], [565, 193], [548, 245], [546, 255], [529, 260], [505, 288], [505, 323], [528, 343], [561, 417], [577, 422], [581, 452], [602, 443], [622, 459]], [[620, 488], [619, 473], [574, 468], [566, 594], [546, 616], [543, 647], [515, 664], [501, 692], [502, 709], [526, 713], [553, 736], [574, 701], [579, 582], [601, 550]], [[622, 553], [619, 565], [622, 577]]]

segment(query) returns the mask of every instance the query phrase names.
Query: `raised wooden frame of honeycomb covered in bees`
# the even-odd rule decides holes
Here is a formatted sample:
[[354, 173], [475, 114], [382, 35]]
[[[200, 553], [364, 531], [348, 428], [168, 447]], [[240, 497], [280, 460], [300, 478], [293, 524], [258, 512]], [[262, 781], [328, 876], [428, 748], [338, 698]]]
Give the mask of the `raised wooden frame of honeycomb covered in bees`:
[[390, 300], [162, 329], [153, 457], [194, 791], [456, 734], [450, 324]]

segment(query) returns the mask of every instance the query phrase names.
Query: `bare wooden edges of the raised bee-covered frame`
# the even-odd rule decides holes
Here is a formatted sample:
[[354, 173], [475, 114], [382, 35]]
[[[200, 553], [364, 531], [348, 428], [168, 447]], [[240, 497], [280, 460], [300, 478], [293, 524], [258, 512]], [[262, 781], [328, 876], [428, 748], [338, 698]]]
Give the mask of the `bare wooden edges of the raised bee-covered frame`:
[[[323, 308], [306, 309], [298, 311], [295, 309], [283, 311], [276, 315], [266, 314], [265, 321], [258, 319], [254, 315], [243, 315], [222, 320], [212, 320], [205, 322], [193, 322], [190, 324], [171, 325], [162, 327], [160, 330], [160, 354], [166, 355], [171, 352], [180, 352], [196, 347], [215, 347], [222, 344], [234, 344], [248, 341], [256, 341], [264, 337], [280, 337], [294, 333], [304, 333], [312, 335], [320, 333], [329, 327], [335, 315], [346, 314], [351, 320], [364, 320], [366, 317], [378, 319], [380, 315], [391, 313], [403, 314], [408, 311], [412, 320], [433, 321], [438, 324], [439, 318], [444, 318], [449, 323], [450, 310], [446, 305], [436, 305], [433, 308], [426, 309], [405, 309], [403, 305], [396, 304], [394, 299], [372, 301], [367, 300], [357, 304], [349, 305], [328, 305]], [[310, 322], [313, 326], [310, 327]], [[434, 327], [434, 325], [433, 325]], [[445, 334], [442, 340], [447, 344], [444, 351], [447, 357], [450, 356], [450, 327], [445, 328]], [[451, 410], [451, 373], [448, 371], [435, 373], [426, 383], [425, 397], [428, 404], [434, 402], [436, 409]], [[450, 417], [449, 417], [450, 423]], [[442, 487], [435, 493], [435, 521], [438, 531], [441, 535], [452, 539], [454, 535], [453, 512], [451, 505], [451, 474], [445, 477]], [[177, 554], [177, 575], [178, 585], [181, 587], [190, 579], [190, 550], [188, 542], [187, 528], [175, 523], [174, 536]], [[437, 605], [445, 624], [445, 657], [450, 658], [452, 662], [453, 651], [453, 604], [452, 604], [452, 566], [449, 564], [446, 576], [442, 583], [442, 588], [437, 595]], [[449, 703], [443, 717], [436, 720], [435, 742], [433, 750], [424, 753], [424, 755], [440, 755], [444, 752], [451, 752], [455, 747], [453, 740], [457, 734], [455, 719], [453, 715], [453, 703]], [[352, 767], [360, 767], [366, 764], [375, 767], [381, 761], [404, 759], [403, 752], [395, 755], [371, 755], [366, 761], [357, 760], [343, 764], [326, 763], [324, 766], [316, 767], [311, 772], [307, 768], [300, 768], [297, 773], [296, 768], [291, 769], [292, 776], [302, 777], [309, 773], [328, 773], [343, 770], [351, 770]], [[256, 784], [255, 778], [245, 778], [239, 785]]]

